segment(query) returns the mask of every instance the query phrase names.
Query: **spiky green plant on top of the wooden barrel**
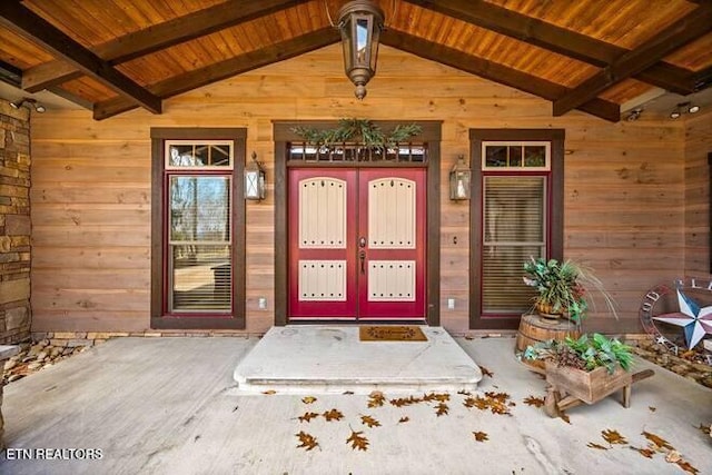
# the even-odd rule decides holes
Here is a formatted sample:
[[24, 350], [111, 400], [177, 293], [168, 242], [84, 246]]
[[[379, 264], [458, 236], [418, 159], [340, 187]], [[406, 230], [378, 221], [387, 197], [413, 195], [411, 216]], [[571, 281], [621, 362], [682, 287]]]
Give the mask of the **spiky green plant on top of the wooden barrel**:
[[591, 293], [599, 291], [617, 318], [613, 299], [605, 291], [601, 280], [591, 269], [571, 259], [560, 261], [531, 257], [524, 263], [524, 284], [534, 287], [538, 294], [534, 307], [544, 317], [558, 318], [565, 315], [580, 324], [589, 309]]

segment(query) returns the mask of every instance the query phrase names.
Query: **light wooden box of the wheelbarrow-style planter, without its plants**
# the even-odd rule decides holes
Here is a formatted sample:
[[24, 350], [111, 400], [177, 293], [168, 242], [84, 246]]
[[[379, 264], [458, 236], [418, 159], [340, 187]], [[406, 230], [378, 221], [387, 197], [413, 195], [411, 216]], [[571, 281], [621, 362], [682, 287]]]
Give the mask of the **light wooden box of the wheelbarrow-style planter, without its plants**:
[[548, 384], [586, 404], [596, 403], [633, 383], [632, 374], [621, 367], [617, 367], [613, 374], [609, 374], [605, 367], [585, 372], [566, 366], [558, 367], [555, 363], [546, 362], [545, 370]]

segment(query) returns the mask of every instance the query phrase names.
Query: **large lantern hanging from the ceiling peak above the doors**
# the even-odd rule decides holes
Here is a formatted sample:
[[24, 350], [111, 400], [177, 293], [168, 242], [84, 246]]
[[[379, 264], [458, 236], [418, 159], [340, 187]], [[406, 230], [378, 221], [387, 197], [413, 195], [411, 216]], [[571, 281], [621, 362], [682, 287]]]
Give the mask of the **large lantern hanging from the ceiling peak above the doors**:
[[383, 10], [368, 0], [350, 1], [338, 12], [344, 69], [356, 86], [355, 95], [358, 99], [366, 97], [366, 85], [376, 75], [383, 21]]

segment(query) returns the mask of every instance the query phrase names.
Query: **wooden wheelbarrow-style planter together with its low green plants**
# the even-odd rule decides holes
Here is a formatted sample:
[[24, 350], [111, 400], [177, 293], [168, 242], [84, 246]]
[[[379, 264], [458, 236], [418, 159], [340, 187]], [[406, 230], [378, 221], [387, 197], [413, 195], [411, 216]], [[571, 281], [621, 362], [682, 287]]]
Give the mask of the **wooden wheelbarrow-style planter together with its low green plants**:
[[580, 338], [541, 342], [527, 346], [524, 358], [544, 360], [546, 382], [551, 385], [550, 394], [553, 396], [553, 402], [547, 404], [561, 404], [560, 393], [570, 395], [565, 405], [571, 405], [573, 399], [593, 404], [627, 387], [629, 395], [624, 396], [627, 407], [630, 385], [633, 383], [630, 374], [633, 353], [629, 345], [616, 338], [584, 334]]

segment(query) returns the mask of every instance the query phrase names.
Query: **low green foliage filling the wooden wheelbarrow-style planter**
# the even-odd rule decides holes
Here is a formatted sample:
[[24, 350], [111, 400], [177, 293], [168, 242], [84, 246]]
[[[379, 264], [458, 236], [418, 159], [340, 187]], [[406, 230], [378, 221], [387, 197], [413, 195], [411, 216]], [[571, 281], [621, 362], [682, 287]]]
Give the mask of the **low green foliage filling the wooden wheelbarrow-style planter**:
[[551, 359], [558, 366], [587, 372], [605, 366], [609, 373], [613, 373], [617, 365], [630, 372], [633, 366], [633, 352], [629, 345], [597, 333], [593, 337], [584, 334], [577, 339], [566, 337], [540, 342], [527, 346], [523, 356], [526, 359]]

